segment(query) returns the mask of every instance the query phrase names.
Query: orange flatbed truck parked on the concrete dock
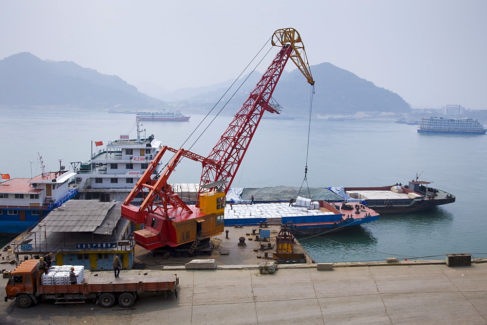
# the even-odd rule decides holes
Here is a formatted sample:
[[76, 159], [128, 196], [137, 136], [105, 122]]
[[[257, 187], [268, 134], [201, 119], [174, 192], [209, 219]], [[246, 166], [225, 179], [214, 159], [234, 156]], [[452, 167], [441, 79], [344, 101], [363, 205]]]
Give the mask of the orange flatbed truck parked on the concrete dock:
[[[112, 272], [101, 271], [88, 276], [85, 273], [85, 280], [81, 284], [41, 285], [37, 283], [37, 262], [37, 259], [22, 261], [12, 271], [5, 285], [5, 302], [15, 299], [18, 307], [28, 308], [43, 300], [54, 300], [55, 304], [79, 304], [94, 300], [101, 307], [108, 308], [118, 301], [120, 307], [129, 308], [144, 292], [171, 291], [176, 298], [178, 296], [177, 275], [161, 275], [160, 271], [147, 271], [144, 275], [128, 274], [122, 278], [114, 278]], [[100, 276], [102, 272], [107, 276]]]

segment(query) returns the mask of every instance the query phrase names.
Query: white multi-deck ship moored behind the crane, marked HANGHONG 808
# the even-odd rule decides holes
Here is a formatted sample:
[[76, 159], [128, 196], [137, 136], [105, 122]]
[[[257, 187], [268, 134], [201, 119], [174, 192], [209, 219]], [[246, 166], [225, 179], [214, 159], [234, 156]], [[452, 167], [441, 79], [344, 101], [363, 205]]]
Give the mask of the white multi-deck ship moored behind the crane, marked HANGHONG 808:
[[89, 161], [72, 163], [78, 173], [78, 199], [108, 202], [127, 198], [161, 145], [154, 135], [142, 139], [145, 130], [140, 130], [139, 121], [136, 124], [137, 139], [120, 135], [119, 140], [93, 153]]

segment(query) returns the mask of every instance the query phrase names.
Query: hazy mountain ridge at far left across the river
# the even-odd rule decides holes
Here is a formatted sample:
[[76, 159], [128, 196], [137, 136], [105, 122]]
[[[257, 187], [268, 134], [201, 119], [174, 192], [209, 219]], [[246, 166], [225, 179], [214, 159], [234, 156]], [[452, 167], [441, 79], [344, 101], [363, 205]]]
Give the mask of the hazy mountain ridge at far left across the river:
[[23, 52], [0, 60], [0, 105], [79, 105], [87, 108], [121, 105], [162, 107], [115, 75], [101, 74], [74, 62], [41, 60]]

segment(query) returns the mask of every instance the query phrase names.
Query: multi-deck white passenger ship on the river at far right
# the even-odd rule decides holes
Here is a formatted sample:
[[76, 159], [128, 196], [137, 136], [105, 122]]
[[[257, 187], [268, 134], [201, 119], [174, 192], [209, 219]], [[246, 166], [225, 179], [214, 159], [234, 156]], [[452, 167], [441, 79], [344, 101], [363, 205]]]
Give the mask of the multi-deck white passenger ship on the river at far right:
[[479, 120], [471, 118], [423, 117], [419, 121], [420, 133], [485, 134], [487, 129]]

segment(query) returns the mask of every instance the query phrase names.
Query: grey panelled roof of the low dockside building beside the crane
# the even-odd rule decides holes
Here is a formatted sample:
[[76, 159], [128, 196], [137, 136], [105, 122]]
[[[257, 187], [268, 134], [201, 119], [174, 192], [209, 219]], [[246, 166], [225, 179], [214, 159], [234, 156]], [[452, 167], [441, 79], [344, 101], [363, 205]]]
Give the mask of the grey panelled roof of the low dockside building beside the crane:
[[[120, 213], [113, 209], [116, 201], [69, 200], [54, 209], [39, 223], [50, 233], [94, 233], [112, 234], [120, 219]], [[43, 231], [37, 229], [33, 231]]]

